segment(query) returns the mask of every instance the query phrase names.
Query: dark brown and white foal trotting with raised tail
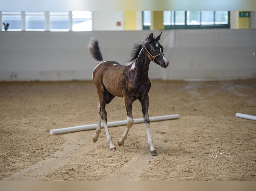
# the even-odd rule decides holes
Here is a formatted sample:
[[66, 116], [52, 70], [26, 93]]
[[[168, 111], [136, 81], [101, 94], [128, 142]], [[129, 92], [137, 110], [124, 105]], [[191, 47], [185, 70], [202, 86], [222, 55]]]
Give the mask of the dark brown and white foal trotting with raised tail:
[[102, 120], [110, 150], [116, 150], [108, 130], [105, 106], [106, 103], [110, 103], [115, 96], [118, 96], [124, 98], [127, 112], [127, 127], [121, 139], [117, 142], [119, 146], [124, 144], [128, 131], [133, 125], [132, 103], [138, 99], [142, 107], [151, 154], [157, 155], [149, 128], [148, 92], [151, 84], [148, 78], [148, 69], [150, 61], [160, 65], [162, 68], [166, 68], [169, 64], [168, 60], [163, 55], [163, 47], [158, 42], [161, 34], [154, 38], [153, 33], [151, 33], [147, 38], [137, 43], [131, 54], [132, 58], [126, 65], [120, 65], [115, 61], [103, 62], [98, 40], [95, 38], [91, 39], [88, 49], [92, 59], [99, 63], [93, 71], [93, 83], [99, 97], [98, 123], [95, 135], [93, 136], [93, 142], [96, 142], [99, 138]]

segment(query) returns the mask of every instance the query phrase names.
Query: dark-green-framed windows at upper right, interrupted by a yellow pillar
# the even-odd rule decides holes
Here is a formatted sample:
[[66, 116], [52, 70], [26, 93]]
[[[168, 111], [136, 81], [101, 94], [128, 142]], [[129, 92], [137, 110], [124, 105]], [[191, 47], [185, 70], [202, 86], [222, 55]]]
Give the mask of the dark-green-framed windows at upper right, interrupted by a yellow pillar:
[[[229, 28], [229, 14], [229, 11], [163, 11], [163, 25], [165, 29]], [[145, 17], [143, 29], [149, 29], [144, 23]]]

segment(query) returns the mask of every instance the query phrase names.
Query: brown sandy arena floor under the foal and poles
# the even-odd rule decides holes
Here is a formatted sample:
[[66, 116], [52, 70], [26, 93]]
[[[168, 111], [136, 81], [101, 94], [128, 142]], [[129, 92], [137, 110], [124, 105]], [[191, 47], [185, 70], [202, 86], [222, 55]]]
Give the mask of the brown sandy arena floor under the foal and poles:
[[[1, 180], [256, 180], [256, 80], [151, 81], [149, 115], [179, 114], [151, 122], [157, 156], [144, 124], [49, 135], [50, 129], [97, 123], [92, 82], [0, 83]], [[126, 120], [123, 98], [107, 105], [108, 121]], [[141, 118], [139, 101], [134, 118]], [[224, 152], [224, 153], [223, 153]], [[218, 153], [218, 154], [216, 154]], [[222, 154], [220, 154], [222, 153]]]

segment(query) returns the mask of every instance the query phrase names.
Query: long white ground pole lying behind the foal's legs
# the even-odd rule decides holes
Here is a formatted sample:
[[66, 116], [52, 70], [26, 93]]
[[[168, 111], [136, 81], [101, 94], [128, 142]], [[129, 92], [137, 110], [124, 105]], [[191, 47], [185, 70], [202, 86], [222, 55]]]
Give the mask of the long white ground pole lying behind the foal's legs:
[[[177, 118], [179, 118], [179, 114], [149, 117], [149, 120], [150, 120], [150, 122], [153, 122], [153, 121], [163, 121], [163, 120], [177, 119]], [[133, 124], [142, 123], [142, 122], [144, 122], [143, 118], [138, 118], [138, 119], [133, 120]], [[127, 124], [127, 120], [107, 122], [108, 127], [115, 127], [115, 126], [121, 126], [121, 125], [126, 125], [126, 124]], [[51, 134], [60, 134], [60, 133], [71, 133], [71, 132], [76, 132], [76, 131], [92, 130], [92, 129], [96, 129], [96, 127], [97, 127], [97, 123], [90, 124], [90, 125], [81, 125], [81, 126], [75, 126], [75, 127], [52, 129], [52, 130], [50, 130], [50, 135]], [[103, 125], [103, 123], [101, 123], [101, 128], [103, 128], [103, 127], [104, 127], [104, 125]]]

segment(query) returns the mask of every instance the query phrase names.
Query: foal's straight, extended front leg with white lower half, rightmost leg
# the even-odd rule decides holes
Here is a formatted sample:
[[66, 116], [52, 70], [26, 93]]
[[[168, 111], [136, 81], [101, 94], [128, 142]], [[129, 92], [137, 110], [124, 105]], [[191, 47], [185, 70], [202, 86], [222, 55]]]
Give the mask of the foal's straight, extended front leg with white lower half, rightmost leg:
[[142, 107], [142, 114], [144, 119], [144, 125], [146, 127], [147, 137], [148, 137], [148, 145], [150, 147], [150, 152], [153, 156], [157, 155], [155, 147], [153, 145], [153, 140], [150, 133], [150, 121], [148, 116], [148, 105], [149, 105], [149, 97], [148, 95], [142, 99], [139, 99]]

